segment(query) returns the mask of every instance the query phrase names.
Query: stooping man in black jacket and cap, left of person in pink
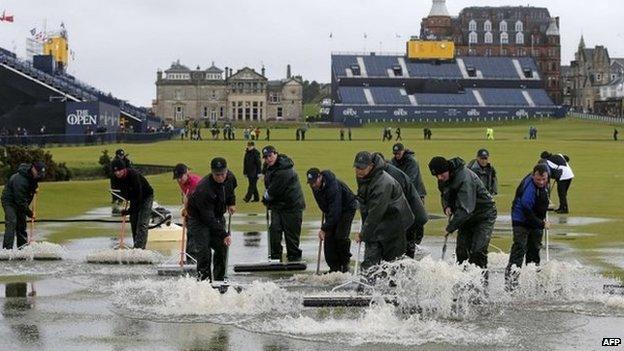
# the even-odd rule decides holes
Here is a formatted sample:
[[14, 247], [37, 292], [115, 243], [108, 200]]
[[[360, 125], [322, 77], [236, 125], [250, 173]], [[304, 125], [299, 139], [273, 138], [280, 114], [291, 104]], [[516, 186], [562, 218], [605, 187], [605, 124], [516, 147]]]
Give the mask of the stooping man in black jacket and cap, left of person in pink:
[[121, 215], [130, 215], [134, 248], [145, 249], [154, 202], [154, 189], [142, 174], [133, 168], [128, 168], [122, 159], [115, 158], [111, 162], [111, 169], [113, 176], [117, 178], [115, 182], [117, 189], [113, 191], [130, 202], [130, 207], [123, 209]]

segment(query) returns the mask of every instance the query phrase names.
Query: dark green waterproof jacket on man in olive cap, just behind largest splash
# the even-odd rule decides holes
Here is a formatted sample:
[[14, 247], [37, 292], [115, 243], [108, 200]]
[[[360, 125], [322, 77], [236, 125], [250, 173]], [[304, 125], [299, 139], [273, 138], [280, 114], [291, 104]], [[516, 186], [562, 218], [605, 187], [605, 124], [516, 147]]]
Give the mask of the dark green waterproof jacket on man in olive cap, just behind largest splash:
[[412, 226], [414, 215], [401, 185], [379, 164], [375, 164], [368, 176], [357, 181], [362, 241], [405, 247], [405, 231]]

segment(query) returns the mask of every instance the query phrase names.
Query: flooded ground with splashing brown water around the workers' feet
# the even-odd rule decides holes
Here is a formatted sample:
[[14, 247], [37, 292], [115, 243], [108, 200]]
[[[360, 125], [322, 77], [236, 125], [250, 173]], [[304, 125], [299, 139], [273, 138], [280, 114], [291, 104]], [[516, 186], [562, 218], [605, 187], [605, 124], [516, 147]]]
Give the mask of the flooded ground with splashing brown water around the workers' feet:
[[[63, 261], [0, 262], [0, 349], [586, 350], [599, 349], [603, 337], [622, 337], [624, 297], [603, 294], [614, 282], [561, 244], [551, 252], [556, 260], [523, 268], [512, 294], [504, 290], [507, 255], [491, 253], [484, 294], [475, 288], [480, 272], [452, 257], [440, 261], [442, 239], [426, 236], [430, 256], [388, 267], [392, 289], [384, 279], [375, 285], [373, 295], [392, 293], [395, 303], [315, 309], [303, 307], [304, 296], [326, 295], [351, 276], [312, 275], [314, 235], [302, 238], [306, 272], [233, 273], [235, 263], [267, 259], [262, 217], [246, 217], [236, 217], [237, 227], [250, 228], [234, 233], [229, 259], [240, 293], [220, 294], [193, 277], [160, 277], [155, 265], [86, 263], [89, 253], [114, 244], [103, 237], [67, 242]], [[178, 251], [177, 242], [159, 246], [165, 256]]]

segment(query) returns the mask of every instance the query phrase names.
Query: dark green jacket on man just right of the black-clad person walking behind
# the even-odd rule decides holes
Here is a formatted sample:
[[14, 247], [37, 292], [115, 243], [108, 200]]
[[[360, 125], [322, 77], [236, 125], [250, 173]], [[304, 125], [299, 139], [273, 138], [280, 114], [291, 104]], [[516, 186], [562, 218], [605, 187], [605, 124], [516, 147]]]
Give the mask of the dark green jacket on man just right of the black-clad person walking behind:
[[266, 166], [264, 186], [266, 193], [263, 202], [270, 210], [303, 211], [305, 200], [301, 183], [294, 168], [295, 164], [286, 155], [278, 155], [273, 166]]

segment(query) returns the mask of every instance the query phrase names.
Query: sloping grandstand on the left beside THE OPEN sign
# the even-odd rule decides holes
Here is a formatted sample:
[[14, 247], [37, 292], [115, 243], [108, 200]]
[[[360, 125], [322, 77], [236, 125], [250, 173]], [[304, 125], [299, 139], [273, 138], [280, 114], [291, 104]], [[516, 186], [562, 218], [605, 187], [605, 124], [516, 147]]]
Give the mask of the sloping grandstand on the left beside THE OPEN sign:
[[[70, 128], [69, 111], [77, 107], [83, 111], [106, 110], [109, 116], [93, 125], [82, 125], [82, 129], [76, 128], [80, 123], [72, 121]], [[116, 133], [121, 131], [120, 125], [135, 132], [147, 132], [162, 125], [162, 120], [146, 108], [81, 82], [62, 69], [54, 69], [51, 56], [38, 55], [30, 62], [3, 48], [0, 48], [0, 122], [4, 128], [21, 127], [29, 131], [38, 131], [45, 125], [52, 134], [69, 130], [81, 133], [85, 128], [104, 128], [108, 133]]]

